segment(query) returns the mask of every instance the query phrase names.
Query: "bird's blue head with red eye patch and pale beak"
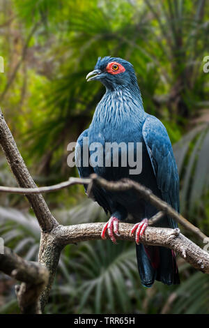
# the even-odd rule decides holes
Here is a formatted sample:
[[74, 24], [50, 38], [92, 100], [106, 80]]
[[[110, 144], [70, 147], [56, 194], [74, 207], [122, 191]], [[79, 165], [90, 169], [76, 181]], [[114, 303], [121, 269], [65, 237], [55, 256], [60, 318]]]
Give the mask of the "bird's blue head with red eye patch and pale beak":
[[118, 57], [99, 57], [94, 70], [88, 73], [86, 80], [100, 80], [110, 90], [118, 87], [138, 87], [132, 64]]

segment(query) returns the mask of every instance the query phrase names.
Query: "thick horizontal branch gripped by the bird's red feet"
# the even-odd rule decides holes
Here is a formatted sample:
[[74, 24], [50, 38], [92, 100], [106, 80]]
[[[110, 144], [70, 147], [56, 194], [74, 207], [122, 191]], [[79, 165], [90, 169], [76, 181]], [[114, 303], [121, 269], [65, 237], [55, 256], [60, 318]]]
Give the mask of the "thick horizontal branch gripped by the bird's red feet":
[[[103, 225], [104, 223], [84, 223], [68, 226], [58, 225], [52, 232], [54, 243], [64, 247], [67, 244], [75, 244], [79, 241], [101, 239]], [[117, 237], [117, 239], [134, 241], [135, 237], [130, 234], [132, 228], [132, 224], [120, 222], [118, 231], [121, 236]], [[109, 236], [107, 236], [107, 238], [109, 238]], [[171, 248], [191, 264], [192, 267], [209, 274], [208, 252], [203, 251], [202, 248], [181, 234], [178, 228], [148, 227], [141, 236], [140, 241], [142, 244], [146, 245]]]

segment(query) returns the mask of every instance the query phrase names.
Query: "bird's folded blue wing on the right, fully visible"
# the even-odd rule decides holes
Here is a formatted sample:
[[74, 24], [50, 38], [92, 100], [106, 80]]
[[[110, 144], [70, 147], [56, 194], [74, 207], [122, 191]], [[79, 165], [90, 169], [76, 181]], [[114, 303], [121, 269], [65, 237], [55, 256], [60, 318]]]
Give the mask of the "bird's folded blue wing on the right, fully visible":
[[[178, 168], [167, 129], [159, 119], [149, 115], [144, 122], [142, 133], [162, 198], [179, 211]], [[178, 226], [170, 217], [169, 223], [172, 228]]]

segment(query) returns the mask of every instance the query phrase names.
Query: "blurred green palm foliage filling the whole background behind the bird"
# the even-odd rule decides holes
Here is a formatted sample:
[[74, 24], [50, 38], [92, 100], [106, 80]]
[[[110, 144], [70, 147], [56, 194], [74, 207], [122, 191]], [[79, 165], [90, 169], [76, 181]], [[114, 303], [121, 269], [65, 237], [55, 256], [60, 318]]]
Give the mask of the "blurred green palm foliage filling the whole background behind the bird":
[[[104, 87], [86, 83], [98, 57], [134, 65], [146, 112], [167, 127], [180, 172], [181, 212], [209, 234], [209, 6], [203, 0], [0, 0], [0, 102], [38, 184], [77, 174], [67, 145], [91, 122]], [[11, 77], [14, 79], [11, 80]], [[0, 184], [16, 186], [5, 158]], [[63, 224], [106, 221], [82, 186], [45, 195]], [[85, 198], [84, 198], [85, 197]], [[37, 260], [40, 230], [24, 197], [1, 195], [0, 234]], [[187, 232], [185, 232], [187, 233]], [[190, 236], [189, 236], [190, 237]], [[141, 287], [134, 245], [109, 241], [67, 246], [47, 305], [49, 313], [209, 313], [207, 276], [180, 264], [182, 284]], [[18, 311], [13, 292], [1, 313]]]

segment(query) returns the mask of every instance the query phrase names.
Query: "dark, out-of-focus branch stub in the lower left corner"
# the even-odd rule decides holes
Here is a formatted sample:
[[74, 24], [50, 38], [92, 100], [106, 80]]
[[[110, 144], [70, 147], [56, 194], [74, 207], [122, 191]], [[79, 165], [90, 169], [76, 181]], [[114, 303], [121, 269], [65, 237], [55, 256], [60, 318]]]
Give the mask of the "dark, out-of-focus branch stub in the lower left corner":
[[7, 247], [4, 247], [4, 253], [0, 254], [0, 269], [5, 274], [23, 282], [15, 286], [21, 312], [24, 314], [41, 313], [39, 297], [47, 285], [48, 270], [36, 262], [23, 260]]

